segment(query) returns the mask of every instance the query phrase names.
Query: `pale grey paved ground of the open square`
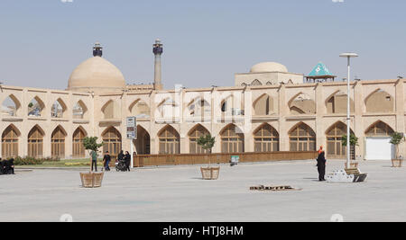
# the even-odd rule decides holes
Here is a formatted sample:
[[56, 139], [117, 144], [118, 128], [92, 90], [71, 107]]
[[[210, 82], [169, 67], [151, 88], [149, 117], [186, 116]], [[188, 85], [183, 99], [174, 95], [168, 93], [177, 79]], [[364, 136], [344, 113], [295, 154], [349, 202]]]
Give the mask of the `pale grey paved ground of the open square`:
[[[343, 162], [329, 162], [328, 172]], [[0, 176], [0, 221], [406, 221], [406, 168], [362, 163], [364, 183], [317, 182], [314, 161], [222, 165], [217, 181], [198, 166], [106, 173], [100, 189], [80, 187], [74, 170]], [[302, 191], [255, 192], [257, 184]]]

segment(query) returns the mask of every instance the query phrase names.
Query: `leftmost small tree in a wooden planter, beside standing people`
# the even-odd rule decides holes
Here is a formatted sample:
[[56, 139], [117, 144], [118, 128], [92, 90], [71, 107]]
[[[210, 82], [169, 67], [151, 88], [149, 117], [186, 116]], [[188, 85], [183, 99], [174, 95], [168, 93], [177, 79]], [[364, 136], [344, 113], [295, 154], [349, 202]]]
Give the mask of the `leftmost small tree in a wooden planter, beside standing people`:
[[83, 138], [83, 146], [88, 150], [90, 155], [90, 171], [88, 173], [80, 173], [80, 179], [84, 188], [98, 188], [103, 182], [104, 173], [93, 173], [91, 153], [98, 152], [98, 148], [103, 146], [103, 143], [97, 144], [97, 137]]

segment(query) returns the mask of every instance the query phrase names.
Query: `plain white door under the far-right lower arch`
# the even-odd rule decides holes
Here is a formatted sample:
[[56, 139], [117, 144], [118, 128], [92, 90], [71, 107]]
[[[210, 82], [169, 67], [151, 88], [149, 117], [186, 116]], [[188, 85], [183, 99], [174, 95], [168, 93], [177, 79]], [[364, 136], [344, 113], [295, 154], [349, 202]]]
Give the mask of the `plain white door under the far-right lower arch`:
[[391, 138], [366, 138], [366, 160], [391, 160], [394, 153]]

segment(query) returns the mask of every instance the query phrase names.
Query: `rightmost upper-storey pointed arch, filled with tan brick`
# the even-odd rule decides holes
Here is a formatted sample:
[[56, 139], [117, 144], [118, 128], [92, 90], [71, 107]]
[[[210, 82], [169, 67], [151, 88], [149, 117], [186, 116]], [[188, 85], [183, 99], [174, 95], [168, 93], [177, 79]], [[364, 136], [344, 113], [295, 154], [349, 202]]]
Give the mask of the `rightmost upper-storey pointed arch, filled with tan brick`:
[[390, 93], [378, 88], [365, 98], [366, 112], [392, 112], [394, 99]]

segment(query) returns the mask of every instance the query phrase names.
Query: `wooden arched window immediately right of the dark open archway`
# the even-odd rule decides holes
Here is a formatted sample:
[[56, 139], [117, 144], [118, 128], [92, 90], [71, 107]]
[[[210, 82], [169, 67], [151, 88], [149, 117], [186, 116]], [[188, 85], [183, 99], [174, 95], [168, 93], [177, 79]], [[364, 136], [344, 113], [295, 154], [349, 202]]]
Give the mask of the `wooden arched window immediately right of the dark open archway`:
[[173, 155], [180, 153], [180, 135], [176, 129], [166, 126], [158, 135], [160, 139], [160, 154]]

